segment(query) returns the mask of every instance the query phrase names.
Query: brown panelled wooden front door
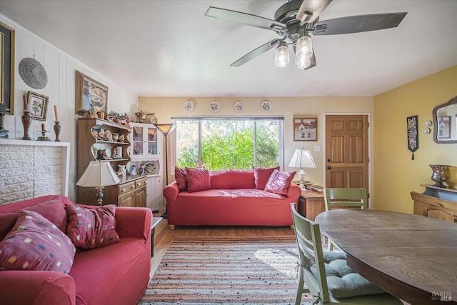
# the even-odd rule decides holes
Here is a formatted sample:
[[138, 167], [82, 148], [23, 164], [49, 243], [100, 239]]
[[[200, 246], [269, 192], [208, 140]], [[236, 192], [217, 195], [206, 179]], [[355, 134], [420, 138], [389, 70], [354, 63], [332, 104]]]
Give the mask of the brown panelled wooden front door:
[[326, 115], [326, 187], [368, 192], [368, 115]]

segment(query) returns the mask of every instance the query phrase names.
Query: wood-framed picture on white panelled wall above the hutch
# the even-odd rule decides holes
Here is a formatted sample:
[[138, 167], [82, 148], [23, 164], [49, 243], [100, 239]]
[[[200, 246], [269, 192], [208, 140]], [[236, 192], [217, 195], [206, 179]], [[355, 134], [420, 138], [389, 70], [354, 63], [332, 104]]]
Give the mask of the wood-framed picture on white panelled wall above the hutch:
[[93, 109], [95, 112], [104, 112], [108, 104], [108, 87], [89, 76], [76, 71], [76, 114], [84, 114]]

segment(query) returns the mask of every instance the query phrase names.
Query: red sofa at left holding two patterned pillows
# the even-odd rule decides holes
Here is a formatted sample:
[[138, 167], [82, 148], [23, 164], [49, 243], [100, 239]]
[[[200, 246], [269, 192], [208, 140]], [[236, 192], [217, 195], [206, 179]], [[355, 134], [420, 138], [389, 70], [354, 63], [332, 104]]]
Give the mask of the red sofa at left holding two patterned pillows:
[[[61, 210], [65, 204], [74, 203], [65, 196], [42, 196], [0, 205], [0, 216], [33, 209], [64, 231], [67, 219]], [[152, 213], [145, 208], [116, 207], [115, 219], [121, 241], [77, 251], [69, 274], [0, 270], [0, 304], [137, 304], [149, 282]]]

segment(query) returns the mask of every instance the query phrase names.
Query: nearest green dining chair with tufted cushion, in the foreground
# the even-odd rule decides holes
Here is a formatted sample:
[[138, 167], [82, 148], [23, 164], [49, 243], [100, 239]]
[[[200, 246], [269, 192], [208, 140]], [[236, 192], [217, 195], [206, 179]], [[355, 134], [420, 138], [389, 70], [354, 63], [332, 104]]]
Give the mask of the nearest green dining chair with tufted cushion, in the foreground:
[[319, 224], [298, 214], [295, 204], [291, 211], [300, 260], [296, 305], [304, 293], [313, 304], [403, 304], [349, 268], [344, 252], [324, 252]]

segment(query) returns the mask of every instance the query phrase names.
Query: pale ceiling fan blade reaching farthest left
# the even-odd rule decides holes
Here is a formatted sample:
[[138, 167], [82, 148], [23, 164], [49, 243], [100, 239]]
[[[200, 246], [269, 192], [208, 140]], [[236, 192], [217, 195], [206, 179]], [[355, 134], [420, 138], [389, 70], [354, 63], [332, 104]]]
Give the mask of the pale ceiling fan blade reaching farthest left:
[[226, 21], [235, 22], [237, 24], [246, 24], [247, 26], [256, 26], [261, 29], [273, 29], [276, 26], [282, 29], [285, 24], [276, 22], [274, 20], [263, 18], [252, 14], [241, 13], [240, 11], [231, 11], [229, 9], [220, 9], [219, 7], [210, 6], [205, 13], [206, 16], [222, 19]]

